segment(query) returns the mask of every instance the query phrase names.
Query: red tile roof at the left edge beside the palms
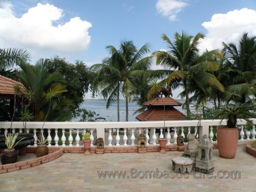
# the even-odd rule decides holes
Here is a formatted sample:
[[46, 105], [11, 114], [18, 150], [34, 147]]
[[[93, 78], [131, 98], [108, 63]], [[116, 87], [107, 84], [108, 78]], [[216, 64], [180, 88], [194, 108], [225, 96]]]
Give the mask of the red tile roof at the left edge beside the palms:
[[23, 91], [26, 90], [21, 83], [0, 75], [0, 94], [14, 95], [14, 85], [20, 85]]

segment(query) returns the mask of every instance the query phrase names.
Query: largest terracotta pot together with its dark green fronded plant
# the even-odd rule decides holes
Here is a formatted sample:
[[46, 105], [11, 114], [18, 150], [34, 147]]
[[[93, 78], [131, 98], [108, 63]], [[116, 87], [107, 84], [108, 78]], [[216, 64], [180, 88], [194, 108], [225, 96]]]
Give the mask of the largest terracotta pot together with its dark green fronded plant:
[[217, 111], [215, 118], [227, 118], [226, 127], [217, 128], [217, 143], [220, 157], [234, 158], [238, 144], [238, 128], [236, 126], [237, 119], [249, 121], [249, 118], [255, 118], [256, 114], [250, 111], [255, 111], [251, 102], [243, 104], [228, 104], [221, 106]]

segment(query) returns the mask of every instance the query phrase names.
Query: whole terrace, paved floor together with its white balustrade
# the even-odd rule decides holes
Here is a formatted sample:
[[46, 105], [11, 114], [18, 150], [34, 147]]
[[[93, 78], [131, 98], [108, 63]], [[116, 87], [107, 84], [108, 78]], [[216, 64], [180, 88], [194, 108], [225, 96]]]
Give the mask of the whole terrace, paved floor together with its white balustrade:
[[[23, 166], [27, 166], [28, 169], [20, 170], [19, 167], [19, 171], [10, 168], [10, 171], [14, 172], [7, 169], [9, 173], [0, 174], [1, 191], [235, 191], [241, 188], [245, 191], [254, 191], [255, 157], [246, 152], [246, 144], [255, 140], [255, 135], [252, 135], [253, 132], [249, 132], [248, 135], [248, 131], [243, 130], [245, 123], [246, 121], [238, 121], [241, 138], [235, 158], [223, 159], [216, 149], [216, 135], [213, 132], [216, 126], [225, 124], [225, 121], [220, 123], [220, 120], [202, 120], [198, 129], [198, 121], [45, 122], [43, 129], [48, 132], [48, 141], [52, 142], [48, 147], [53, 161], [41, 159], [39, 164], [37, 161], [38, 166], [34, 162], [35, 167], [27, 164]], [[256, 124], [256, 120], [253, 123]], [[27, 131], [33, 129], [36, 138], [36, 132], [40, 131], [42, 126], [43, 122], [28, 122]], [[9, 129], [10, 122], [0, 122], [0, 127], [5, 133], [23, 131], [22, 122], [13, 122], [12, 130]], [[195, 132], [199, 132], [199, 140], [202, 135], [208, 135], [213, 142], [213, 178], [203, 178], [204, 176], [200, 176], [198, 172], [195, 175], [185, 175], [188, 178], [178, 178], [180, 175], [176, 175], [175, 178], [143, 177], [144, 171], [171, 171], [171, 159], [183, 154], [184, 150], [183, 146], [177, 146], [178, 135], [185, 135], [184, 132], [194, 133], [193, 128]], [[55, 130], [55, 135], [50, 134], [51, 129]], [[61, 136], [58, 134], [59, 129], [62, 132]], [[91, 156], [83, 155], [80, 135], [85, 131], [91, 134]], [[121, 132], [123, 134], [120, 134]], [[138, 153], [136, 143], [139, 133], [145, 133], [147, 136], [147, 151], [143, 154]], [[104, 154], [95, 154], [96, 137], [104, 138]], [[160, 150], [158, 137], [167, 138], [166, 154], [157, 152]], [[28, 146], [27, 152], [34, 152], [35, 148], [36, 140], [34, 146]], [[57, 154], [58, 158], [53, 158], [53, 153]], [[3, 167], [1, 169], [3, 171]], [[17, 167], [15, 169], [17, 170]], [[135, 170], [137, 175], [134, 173]], [[126, 175], [125, 178], [99, 178], [98, 171], [126, 171]], [[141, 173], [138, 174], [138, 171]], [[225, 173], [225, 177], [230, 175], [226, 179], [218, 178], [218, 171], [229, 171]], [[231, 178], [230, 171], [240, 171], [241, 178]]]

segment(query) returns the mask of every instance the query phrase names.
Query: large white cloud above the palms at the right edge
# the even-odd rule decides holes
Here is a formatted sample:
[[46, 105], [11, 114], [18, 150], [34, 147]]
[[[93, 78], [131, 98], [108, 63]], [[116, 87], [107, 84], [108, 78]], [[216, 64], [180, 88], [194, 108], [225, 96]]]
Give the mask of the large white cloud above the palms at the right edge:
[[213, 14], [211, 21], [204, 22], [202, 26], [207, 29], [202, 50], [221, 49], [222, 42], [238, 43], [244, 32], [256, 35], [256, 11], [243, 8], [227, 14]]

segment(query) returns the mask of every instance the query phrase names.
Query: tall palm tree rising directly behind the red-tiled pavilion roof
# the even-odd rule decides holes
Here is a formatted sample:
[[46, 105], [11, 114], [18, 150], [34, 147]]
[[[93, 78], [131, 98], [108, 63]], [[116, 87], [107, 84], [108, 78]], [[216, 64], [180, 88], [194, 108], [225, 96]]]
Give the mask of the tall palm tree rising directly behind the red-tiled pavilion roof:
[[199, 43], [204, 36], [201, 33], [196, 36], [189, 36], [185, 32], [174, 35], [174, 41], [163, 34], [162, 39], [167, 43], [169, 51], [156, 51], [156, 64], [162, 65], [165, 70], [157, 70], [159, 78], [164, 78], [159, 84], [171, 86], [172, 89], [182, 86], [184, 92], [181, 96], [185, 97], [187, 114], [190, 113], [189, 107], [189, 84], [196, 82], [204, 85], [213, 85], [224, 91], [223, 85], [211, 74], [212, 71], [219, 69], [219, 63], [209, 58], [215, 55], [218, 57], [219, 51], [206, 51], [199, 55]]

